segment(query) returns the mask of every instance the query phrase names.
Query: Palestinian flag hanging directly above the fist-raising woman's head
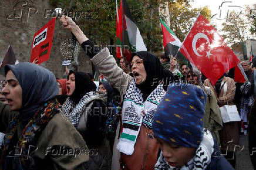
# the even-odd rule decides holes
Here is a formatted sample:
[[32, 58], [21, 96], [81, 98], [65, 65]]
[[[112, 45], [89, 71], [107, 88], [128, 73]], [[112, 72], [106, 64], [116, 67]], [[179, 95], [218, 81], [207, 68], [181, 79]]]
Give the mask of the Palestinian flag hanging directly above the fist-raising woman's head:
[[130, 13], [126, 0], [120, 1], [120, 9], [118, 9], [116, 1], [116, 53], [117, 57], [126, 57], [130, 62], [132, 52], [146, 51], [140, 30]]

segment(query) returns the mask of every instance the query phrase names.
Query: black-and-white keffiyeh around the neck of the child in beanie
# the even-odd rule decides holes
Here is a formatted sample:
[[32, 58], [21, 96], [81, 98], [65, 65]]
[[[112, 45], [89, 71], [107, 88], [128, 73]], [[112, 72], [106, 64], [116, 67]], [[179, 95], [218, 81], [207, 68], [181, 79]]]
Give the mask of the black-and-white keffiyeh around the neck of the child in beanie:
[[174, 167], [168, 164], [166, 159], [163, 157], [161, 152], [160, 157], [157, 159], [155, 170], [186, 170], [186, 169], [206, 169], [211, 163], [211, 155], [214, 151], [214, 141], [211, 132], [204, 129], [203, 140], [201, 141], [199, 147], [196, 150], [194, 157], [187, 162], [186, 165], [181, 168]]

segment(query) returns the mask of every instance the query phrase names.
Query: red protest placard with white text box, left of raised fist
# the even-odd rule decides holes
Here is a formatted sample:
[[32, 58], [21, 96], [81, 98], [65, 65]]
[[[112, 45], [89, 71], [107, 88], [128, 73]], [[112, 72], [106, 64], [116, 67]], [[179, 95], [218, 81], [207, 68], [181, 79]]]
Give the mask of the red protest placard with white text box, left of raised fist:
[[56, 17], [52, 18], [45, 26], [35, 33], [32, 43], [31, 63], [35, 58], [38, 58], [38, 64], [46, 62], [49, 59], [55, 21]]

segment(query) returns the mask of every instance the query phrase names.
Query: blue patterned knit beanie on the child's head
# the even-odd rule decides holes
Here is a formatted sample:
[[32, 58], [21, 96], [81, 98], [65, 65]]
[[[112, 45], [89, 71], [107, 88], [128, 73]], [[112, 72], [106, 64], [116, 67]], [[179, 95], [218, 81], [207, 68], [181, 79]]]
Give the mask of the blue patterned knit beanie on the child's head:
[[205, 107], [206, 94], [199, 86], [170, 85], [154, 114], [154, 135], [172, 144], [198, 148]]

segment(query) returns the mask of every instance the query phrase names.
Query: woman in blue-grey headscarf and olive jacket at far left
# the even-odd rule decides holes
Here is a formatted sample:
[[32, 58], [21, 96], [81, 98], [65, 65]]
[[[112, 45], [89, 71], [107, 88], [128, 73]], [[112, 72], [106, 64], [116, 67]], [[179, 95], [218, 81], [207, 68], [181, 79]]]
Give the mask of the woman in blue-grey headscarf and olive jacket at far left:
[[[47, 154], [46, 148], [87, 149], [59, 110], [58, 85], [47, 69], [32, 63], [5, 66], [6, 85], [0, 103], [0, 131], [6, 132], [0, 169], [82, 169], [88, 155]], [[10, 108], [11, 107], [11, 108]], [[14, 112], [14, 111], [18, 111]]]

